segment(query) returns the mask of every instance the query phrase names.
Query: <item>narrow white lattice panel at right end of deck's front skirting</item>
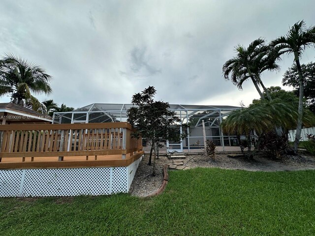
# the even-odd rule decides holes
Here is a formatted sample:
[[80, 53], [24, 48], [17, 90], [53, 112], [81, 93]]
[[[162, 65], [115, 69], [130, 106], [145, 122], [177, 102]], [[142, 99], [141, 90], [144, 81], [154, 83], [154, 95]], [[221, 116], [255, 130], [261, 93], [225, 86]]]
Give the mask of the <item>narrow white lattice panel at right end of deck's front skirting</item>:
[[112, 193], [127, 193], [127, 167], [112, 168]]

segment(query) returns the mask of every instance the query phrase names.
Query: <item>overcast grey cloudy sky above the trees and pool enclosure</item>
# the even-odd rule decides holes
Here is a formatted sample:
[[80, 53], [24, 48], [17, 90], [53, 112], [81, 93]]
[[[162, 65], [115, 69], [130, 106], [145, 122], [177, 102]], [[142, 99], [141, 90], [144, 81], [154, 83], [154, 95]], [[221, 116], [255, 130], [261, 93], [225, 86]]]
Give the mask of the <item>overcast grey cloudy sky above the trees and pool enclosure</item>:
[[[130, 103], [148, 86], [170, 104], [249, 105], [259, 98], [252, 82], [240, 91], [222, 77], [234, 47], [269, 42], [300, 20], [314, 26], [314, 9], [314, 0], [1, 0], [0, 56], [40, 64], [53, 93], [36, 97], [74, 108]], [[283, 56], [279, 72], [264, 72], [265, 86], [283, 87], [292, 63]]]

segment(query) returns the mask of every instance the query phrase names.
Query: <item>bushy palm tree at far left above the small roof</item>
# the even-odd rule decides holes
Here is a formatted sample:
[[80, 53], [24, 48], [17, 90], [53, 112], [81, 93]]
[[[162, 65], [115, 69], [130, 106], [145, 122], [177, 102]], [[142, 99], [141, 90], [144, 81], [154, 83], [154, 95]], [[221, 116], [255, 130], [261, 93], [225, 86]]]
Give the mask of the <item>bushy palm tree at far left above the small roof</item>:
[[51, 76], [39, 65], [13, 54], [0, 60], [0, 96], [11, 95], [11, 102], [45, 113], [45, 106], [32, 93], [49, 94]]

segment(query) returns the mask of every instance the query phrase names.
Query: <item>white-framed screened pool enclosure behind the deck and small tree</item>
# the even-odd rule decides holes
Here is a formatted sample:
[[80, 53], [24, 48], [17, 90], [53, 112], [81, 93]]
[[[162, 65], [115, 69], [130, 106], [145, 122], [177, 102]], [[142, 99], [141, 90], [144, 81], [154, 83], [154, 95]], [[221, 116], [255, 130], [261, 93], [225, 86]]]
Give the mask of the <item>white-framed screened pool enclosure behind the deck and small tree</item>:
[[[106, 104], [93, 103], [78, 108], [72, 112], [59, 112], [54, 114], [53, 123], [102, 123], [126, 122], [127, 110], [132, 104]], [[178, 132], [187, 134], [182, 142], [166, 142], [168, 151], [182, 152], [183, 149], [203, 148], [202, 120], [205, 123], [206, 139], [213, 140], [217, 146], [238, 146], [236, 136], [222, 133], [220, 123], [230, 112], [241, 109], [235, 106], [206, 106], [206, 105], [180, 105], [170, 104], [169, 110], [174, 111], [182, 123], [189, 127]]]

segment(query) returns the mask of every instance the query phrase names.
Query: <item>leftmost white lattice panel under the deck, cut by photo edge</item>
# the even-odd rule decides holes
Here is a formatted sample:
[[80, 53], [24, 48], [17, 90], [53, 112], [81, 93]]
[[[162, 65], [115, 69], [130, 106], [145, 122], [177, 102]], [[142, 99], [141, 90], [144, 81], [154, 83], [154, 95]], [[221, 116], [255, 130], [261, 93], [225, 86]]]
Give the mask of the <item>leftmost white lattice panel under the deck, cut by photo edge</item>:
[[0, 171], [0, 197], [16, 197], [20, 195], [20, 183], [25, 170]]

